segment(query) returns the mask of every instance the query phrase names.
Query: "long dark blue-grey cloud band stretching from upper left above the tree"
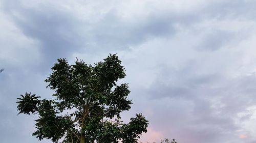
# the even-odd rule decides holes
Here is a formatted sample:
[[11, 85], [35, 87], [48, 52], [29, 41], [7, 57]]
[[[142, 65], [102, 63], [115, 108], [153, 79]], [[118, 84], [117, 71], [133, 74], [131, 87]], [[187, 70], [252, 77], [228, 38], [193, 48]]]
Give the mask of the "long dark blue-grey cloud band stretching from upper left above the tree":
[[149, 15], [125, 21], [115, 9], [101, 15], [102, 18], [97, 22], [78, 20], [72, 13], [47, 6], [35, 9], [17, 3], [8, 6], [6, 11], [26, 36], [40, 41], [46, 62], [79, 51], [127, 49], [151, 38], [176, 33], [172, 17]]

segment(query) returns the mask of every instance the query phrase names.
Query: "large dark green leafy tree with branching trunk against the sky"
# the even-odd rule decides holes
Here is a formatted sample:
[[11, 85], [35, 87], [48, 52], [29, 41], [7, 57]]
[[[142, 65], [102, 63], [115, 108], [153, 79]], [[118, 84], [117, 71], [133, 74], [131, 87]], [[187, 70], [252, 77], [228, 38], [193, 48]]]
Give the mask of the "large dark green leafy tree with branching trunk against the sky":
[[39, 140], [131, 143], [147, 131], [148, 121], [141, 113], [130, 123], [120, 120], [120, 113], [129, 110], [132, 102], [127, 99], [128, 84], [117, 84], [126, 75], [116, 54], [94, 66], [78, 59], [74, 65], [58, 59], [52, 70], [45, 81], [49, 83], [47, 88], [55, 90], [55, 100], [40, 99], [31, 93], [17, 98], [19, 113], [38, 113], [37, 130], [32, 135]]

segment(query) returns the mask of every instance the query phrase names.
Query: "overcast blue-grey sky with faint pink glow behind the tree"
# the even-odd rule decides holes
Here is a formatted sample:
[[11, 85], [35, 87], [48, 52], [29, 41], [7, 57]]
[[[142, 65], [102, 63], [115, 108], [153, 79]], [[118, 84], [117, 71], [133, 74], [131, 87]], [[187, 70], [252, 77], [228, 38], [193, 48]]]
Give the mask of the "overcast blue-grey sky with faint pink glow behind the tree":
[[117, 53], [141, 141], [256, 142], [256, 1], [0, 0], [0, 142], [44, 142], [36, 115], [17, 116], [25, 92], [51, 98], [58, 58], [88, 64]]

